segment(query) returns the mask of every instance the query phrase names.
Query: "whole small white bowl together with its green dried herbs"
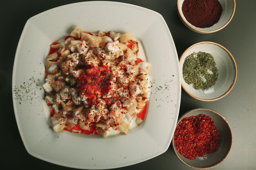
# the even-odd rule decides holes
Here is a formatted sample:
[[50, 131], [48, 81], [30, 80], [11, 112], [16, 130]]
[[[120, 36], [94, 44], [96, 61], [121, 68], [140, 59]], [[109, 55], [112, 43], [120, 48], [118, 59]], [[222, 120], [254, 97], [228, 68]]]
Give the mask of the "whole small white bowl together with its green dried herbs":
[[220, 44], [199, 42], [190, 46], [180, 57], [182, 88], [191, 97], [215, 101], [233, 88], [237, 67], [234, 57]]

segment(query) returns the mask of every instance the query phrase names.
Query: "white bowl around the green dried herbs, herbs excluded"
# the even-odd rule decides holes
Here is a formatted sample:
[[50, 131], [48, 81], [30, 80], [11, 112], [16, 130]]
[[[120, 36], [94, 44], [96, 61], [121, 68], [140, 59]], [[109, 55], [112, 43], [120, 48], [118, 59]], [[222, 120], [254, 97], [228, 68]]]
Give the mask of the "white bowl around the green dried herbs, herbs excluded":
[[[205, 91], [195, 90], [192, 85], [185, 82], [182, 75], [182, 67], [186, 57], [193, 52], [199, 51], [210, 53], [216, 62], [216, 67], [218, 68], [218, 79], [215, 85]], [[237, 67], [234, 57], [225, 47], [215, 42], [198, 42], [186, 49], [186, 51], [181, 55], [180, 74], [182, 88], [186, 93], [195, 99], [210, 102], [221, 99], [231, 91], [236, 82]]]

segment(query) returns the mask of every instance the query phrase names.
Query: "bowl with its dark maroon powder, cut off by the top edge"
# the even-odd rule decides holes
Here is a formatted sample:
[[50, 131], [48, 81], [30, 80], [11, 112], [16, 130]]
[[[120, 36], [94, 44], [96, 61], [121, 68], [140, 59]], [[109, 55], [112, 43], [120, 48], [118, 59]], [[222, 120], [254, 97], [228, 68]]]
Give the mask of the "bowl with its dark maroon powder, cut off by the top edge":
[[[214, 0], [208, 1], [195, 1], [193, 2], [185, 0], [177, 0], [177, 11], [180, 20], [185, 26], [187, 26], [192, 31], [198, 33], [214, 33], [223, 29], [234, 16], [236, 9], [236, 0], [216, 0], [215, 3], [219, 5], [219, 11], [216, 13], [216, 4]], [[182, 10], [182, 6], [184, 7]], [[205, 5], [205, 3], [208, 3]], [[204, 9], [205, 8], [205, 9]], [[214, 15], [214, 13], [216, 13]], [[208, 20], [208, 21], [206, 21]]]

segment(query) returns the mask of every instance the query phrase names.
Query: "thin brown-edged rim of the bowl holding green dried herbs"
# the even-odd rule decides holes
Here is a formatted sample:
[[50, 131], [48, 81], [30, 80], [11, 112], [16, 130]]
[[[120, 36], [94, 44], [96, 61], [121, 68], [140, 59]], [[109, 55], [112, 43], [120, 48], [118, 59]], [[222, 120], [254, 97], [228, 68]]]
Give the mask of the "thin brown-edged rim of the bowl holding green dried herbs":
[[[187, 48], [187, 49], [182, 53], [182, 55], [180, 56], [179, 63], [181, 62], [182, 57], [184, 57], [184, 54], [185, 54], [189, 49], [191, 49], [193, 46], [196, 46], [196, 45], [199, 45], [199, 44], [214, 44], [214, 45], [219, 46], [220, 48], [222, 48], [223, 50], [225, 50], [225, 51], [228, 53], [229, 57], [231, 58], [231, 60], [232, 60], [232, 62], [233, 62], [233, 64], [234, 64], [234, 68], [235, 68], [235, 77], [234, 77], [233, 83], [231, 84], [231, 86], [229, 87], [229, 89], [228, 89], [223, 95], [221, 95], [220, 97], [213, 98], [213, 99], [201, 99], [201, 98], [199, 98], [199, 97], [196, 97], [196, 96], [192, 95], [191, 93], [189, 93], [189, 91], [186, 90], [186, 88], [184, 87], [184, 85], [183, 85], [182, 83], [181, 83], [181, 86], [182, 86], [182, 88], [184, 89], [184, 91], [186, 91], [186, 93], [188, 93], [191, 97], [193, 97], [193, 98], [195, 98], [195, 99], [198, 99], [198, 100], [204, 101], [204, 102], [216, 101], [216, 100], [218, 100], [218, 99], [221, 99], [222, 97], [225, 97], [225, 96], [232, 90], [232, 88], [234, 87], [234, 85], [235, 85], [235, 83], [236, 83], [236, 79], [237, 79], [237, 66], [236, 66], [236, 61], [235, 61], [233, 55], [232, 55], [224, 46], [222, 46], [222, 45], [220, 45], [220, 44], [218, 44], [218, 43], [216, 43], [216, 42], [204, 41], [204, 42], [198, 42], [198, 43], [196, 43], [196, 44], [193, 44], [193, 45], [191, 45], [189, 48]], [[180, 63], [180, 64], [181, 64], [181, 63]], [[181, 69], [181, 68], [180, 68], [180, 69]], [[180, 72], [180, 74], [181, 74], [180, 76], [181, 76], [181, 78], [182, 78], [182, 72]], [[182, 79], [183, 79], [183, 78], [182, 78]]]

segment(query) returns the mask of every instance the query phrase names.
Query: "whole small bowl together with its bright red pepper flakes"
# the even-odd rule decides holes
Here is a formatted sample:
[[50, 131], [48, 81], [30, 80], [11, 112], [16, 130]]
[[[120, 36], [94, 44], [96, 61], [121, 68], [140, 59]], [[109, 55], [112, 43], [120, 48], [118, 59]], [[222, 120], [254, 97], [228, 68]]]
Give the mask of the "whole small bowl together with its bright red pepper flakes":
[[198, 108], [180, 117], [173, 135], [173, 150], [185, 165], [205, 170], [222, 163], [231, 150], [233, 136], [220, 113]]

